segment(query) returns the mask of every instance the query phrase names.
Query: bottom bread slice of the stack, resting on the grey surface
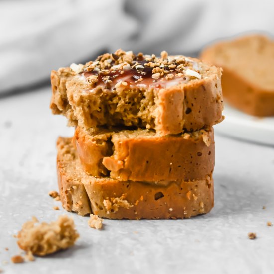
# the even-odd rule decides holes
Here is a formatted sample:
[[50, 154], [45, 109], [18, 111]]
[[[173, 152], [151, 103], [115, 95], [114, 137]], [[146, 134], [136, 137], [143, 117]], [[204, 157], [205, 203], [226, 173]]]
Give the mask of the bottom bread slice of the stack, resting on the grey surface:
[[208, 213], [214, 205], [211, 176], [162, 184], [95, 178], [82, 170], [71, 138], [59, 137], [57, 151], [60, 197], [68, 211], [109, 219], [169, 219]]

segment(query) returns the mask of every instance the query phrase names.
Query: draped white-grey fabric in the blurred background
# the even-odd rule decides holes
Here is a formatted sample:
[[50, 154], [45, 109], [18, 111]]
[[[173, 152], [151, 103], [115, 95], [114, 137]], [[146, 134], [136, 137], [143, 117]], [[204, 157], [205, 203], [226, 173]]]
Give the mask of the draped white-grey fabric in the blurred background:
[[117, 48], [197, 55], [244, 32], [274, 34], [272, 0], [1, 0], [0, 93]]

